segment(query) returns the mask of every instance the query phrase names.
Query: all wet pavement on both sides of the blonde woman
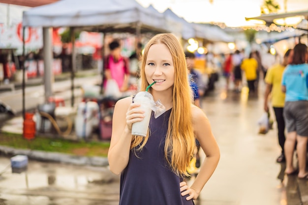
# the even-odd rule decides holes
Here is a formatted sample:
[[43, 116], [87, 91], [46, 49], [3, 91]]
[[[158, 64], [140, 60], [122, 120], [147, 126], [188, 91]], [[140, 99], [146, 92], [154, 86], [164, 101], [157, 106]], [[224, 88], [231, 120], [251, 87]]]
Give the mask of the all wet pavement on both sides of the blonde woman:
[[[285, 176], [285, 164], [276, 163], [276, 123], [267, 134], [258, 134], [264, 85], [258, 96], [248, 96], [245, 88], [242, 93], [223, 88], [220, 80], [201, 102], [221, 158], [195, 204], [308, 205], [308, 180]], [[2, 174], [8, 165], [9, 158], [0, 157], [0, 205], [118, 204], [119, 176], [108, 167], [30, 161], [27, 173], [12, 174], [8, 168]]]

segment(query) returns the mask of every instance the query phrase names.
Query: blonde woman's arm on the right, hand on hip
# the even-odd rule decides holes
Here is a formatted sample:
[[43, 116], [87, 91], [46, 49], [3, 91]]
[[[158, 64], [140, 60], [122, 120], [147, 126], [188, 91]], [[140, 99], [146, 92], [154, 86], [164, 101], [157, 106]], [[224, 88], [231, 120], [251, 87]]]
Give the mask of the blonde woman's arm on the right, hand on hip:
[[185, 192], [182, 192], [183, 196], [189, 194], [186, 200], [198, 198], [202, 188], [213, 175], [220, 158], [219, 147], [212, 133], [209, 119], [201, 109], [195, 106], [192, 108], [192, 116], [194, 131], [206, 158], [201, 163], [199, 174], [193, 184]]

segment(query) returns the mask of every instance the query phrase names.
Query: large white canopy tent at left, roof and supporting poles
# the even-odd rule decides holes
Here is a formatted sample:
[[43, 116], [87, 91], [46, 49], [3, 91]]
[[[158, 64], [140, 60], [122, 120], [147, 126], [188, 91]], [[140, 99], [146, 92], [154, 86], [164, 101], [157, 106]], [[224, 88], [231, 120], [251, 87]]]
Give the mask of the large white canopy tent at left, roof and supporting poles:
[[[45, 98], [52, 96], [51, 78], [51, 29], [69, 27], [74, 30], [96, 32], [130, 32], [139, 38], [143, 32], [170, 32], [164, 16], [146, 9], [135, 0], [60, 0], [24, 11], [23, 27], [43, 27]], [[74, 34], [71, 33], [72, 51], [72, 102], [74, 103], [73, 79], [76, 70]], [[23, 93], [25, 83], [23, 80]], [[23, 100], [24, 108], [24, 100]], [[24, 110], [24, 109], [23, 109]]]

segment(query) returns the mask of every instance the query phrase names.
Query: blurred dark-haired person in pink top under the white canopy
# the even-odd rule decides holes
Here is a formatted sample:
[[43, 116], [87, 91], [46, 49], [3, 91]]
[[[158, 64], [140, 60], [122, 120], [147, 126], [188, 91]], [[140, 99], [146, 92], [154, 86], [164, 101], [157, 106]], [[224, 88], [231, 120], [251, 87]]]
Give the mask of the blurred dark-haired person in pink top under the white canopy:
[[[109, 44], [110, 54], [104, 59], [104, 83], [114, 79], [121, 92], [128, 89], [129, 59], [121, 55], [121, 46], [117, 40]], [[106, 84], [104, 84], [105, 86]]]

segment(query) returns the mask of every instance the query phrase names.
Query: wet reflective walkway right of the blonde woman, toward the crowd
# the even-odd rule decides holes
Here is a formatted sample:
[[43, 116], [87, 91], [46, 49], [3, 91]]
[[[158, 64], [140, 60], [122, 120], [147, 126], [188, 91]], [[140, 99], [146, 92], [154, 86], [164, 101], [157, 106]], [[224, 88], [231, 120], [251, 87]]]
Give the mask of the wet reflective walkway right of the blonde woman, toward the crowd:
[[216, 92], [203, 100], [202, 108], [212, 124], [221, 158], [201, 192], [199, 205], [308, 203], [308, 182], [284, 176], [285, 164], [276, 163], [281, 152], [276, 123], [267, 134], [258, 134], [264, 84], [260, 82], [257, 95], [249, 96], [246, 88], [235, 93], [219, 83]]

